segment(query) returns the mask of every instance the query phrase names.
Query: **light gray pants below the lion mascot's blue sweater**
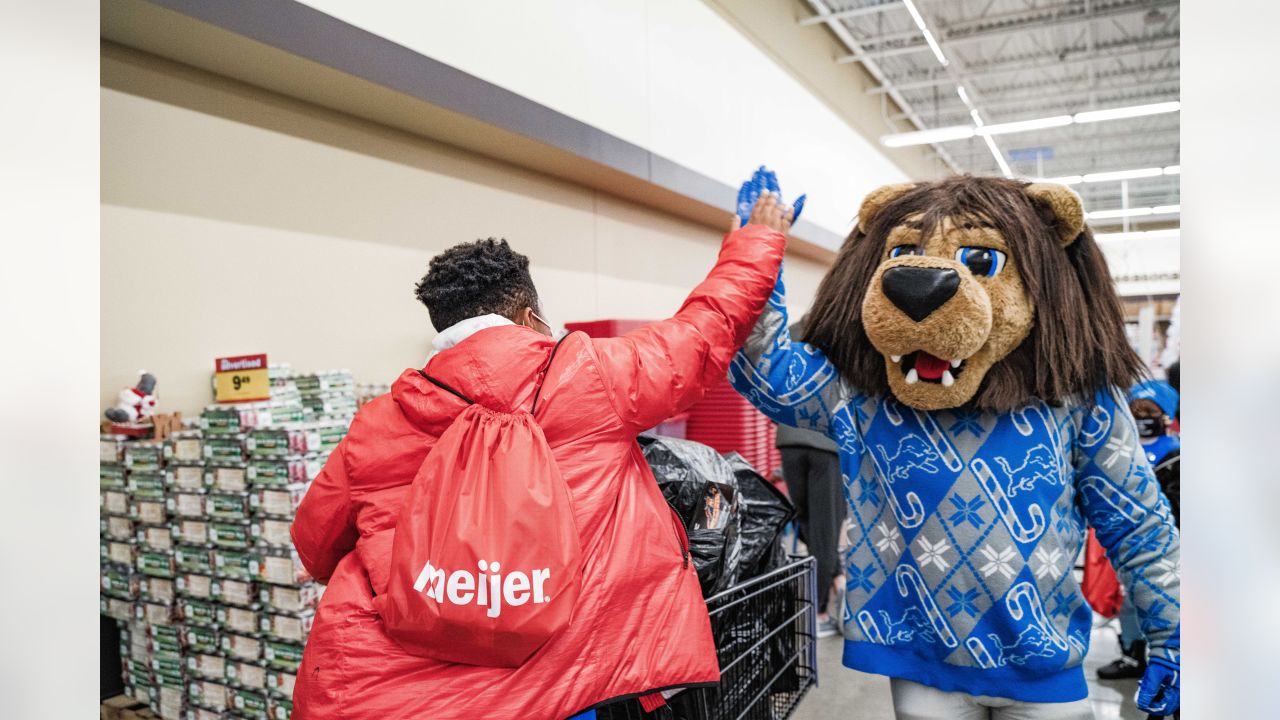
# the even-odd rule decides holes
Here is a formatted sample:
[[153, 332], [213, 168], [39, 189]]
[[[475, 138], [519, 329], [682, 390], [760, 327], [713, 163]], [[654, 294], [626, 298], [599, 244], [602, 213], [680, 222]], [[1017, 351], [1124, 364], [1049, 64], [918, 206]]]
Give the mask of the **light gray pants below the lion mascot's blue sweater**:
[[1088, 700], [1075, 702], [1020, 702], [1001, 697], [975, 697], [893, 678], [893, 715], [897, 720], [1093, 720]]

